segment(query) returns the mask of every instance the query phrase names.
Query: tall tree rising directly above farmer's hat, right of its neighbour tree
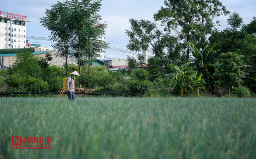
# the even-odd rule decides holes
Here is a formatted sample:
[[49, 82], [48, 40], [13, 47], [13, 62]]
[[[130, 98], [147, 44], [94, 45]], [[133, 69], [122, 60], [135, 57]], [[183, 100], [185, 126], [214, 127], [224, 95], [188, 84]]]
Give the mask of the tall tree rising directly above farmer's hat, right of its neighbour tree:
[[[73, 49], [76, 50], [74, 56], [78, 58], [79, 73], [81, 73], [81, 57], [84, 56], [81, 53], [86, 53], [85, 50], [90, 50], [86, 48], [92, 46], [88, 43], [99, 42], [96, 39], [104, 34], [107, 25], [99, 22], [101, 17], [97, 14], [101, 9], [101, 0], [71, 0], [69, 5], [71, 8], [69, 25], [74, 29]], [[95, 27], [95, 25], [98, 27]]]

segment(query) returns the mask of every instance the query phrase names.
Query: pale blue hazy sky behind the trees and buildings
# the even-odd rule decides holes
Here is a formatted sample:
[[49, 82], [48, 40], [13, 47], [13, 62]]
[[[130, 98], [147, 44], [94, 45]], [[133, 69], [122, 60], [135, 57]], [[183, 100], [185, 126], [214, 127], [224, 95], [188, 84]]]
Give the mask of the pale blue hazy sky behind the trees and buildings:
[[[61, 0], [62, 1], [62, 0]], [[244, 24], [248, 24], [253, 16], [256, 16], [256, 0], [220, 0], [227, 10], [237, 12], [243, 18]], [[40, 23], [41, 17], [45, 16], [45, 8], [57, 3], [57, 0], [1, 0], [0, 10], [28, 16], [27, 36], [48, 37], [50, 31], [43, 28]], [[106, 22], [106, 41], [111, 47], [126, 49], [129, 41], [125, 29], [130, 29], [129, 19], [145, 19], [153, 21], [152, 15], [156, 13], [163, 0], [102, 0], [102, 9], [99, 14], [102, 21]], [[218, 29], [227, 28], [227, 17], [221, 16], [216, 20], [221, 22]], [[29, 43], [41, 44], [50, 47], [51, 41], [29, 40]], [[115, 51], [116, 52], [116, 51]], [[119, 54], [118, 54], [119, 53]], [[123, 52], [114, 53], [106, 51], [106, 58], [126, 58]], [[124, 55], [122, 55], [124, 54]]]

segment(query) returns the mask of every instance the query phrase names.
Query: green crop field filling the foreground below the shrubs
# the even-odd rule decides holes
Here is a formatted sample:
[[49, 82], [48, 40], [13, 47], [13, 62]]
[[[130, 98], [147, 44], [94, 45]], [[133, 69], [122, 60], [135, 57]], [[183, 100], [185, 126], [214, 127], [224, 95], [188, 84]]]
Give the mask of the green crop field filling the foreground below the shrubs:
[[[0, 98], [0, 158], [256, 158], [256, 99]], [[12, 149], [12, 136], [51, 149]]]

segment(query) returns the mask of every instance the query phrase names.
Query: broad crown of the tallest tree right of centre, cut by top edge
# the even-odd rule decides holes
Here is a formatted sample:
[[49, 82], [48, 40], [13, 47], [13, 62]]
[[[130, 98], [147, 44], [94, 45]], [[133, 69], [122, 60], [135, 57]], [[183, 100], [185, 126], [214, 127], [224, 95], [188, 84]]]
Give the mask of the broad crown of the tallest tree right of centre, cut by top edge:
[[[154, 14], [155, 21], [161, 21], [165, 30], [174, 32], [180, 40], [200, 44], [197, 48], [205, 45], [206, 36], [215, 25], [214, 17], [230, 13], [219, 0], [164, 0], [164, 4], [166, 7]], [[187, 59], [189, 54], [188, 47]]]

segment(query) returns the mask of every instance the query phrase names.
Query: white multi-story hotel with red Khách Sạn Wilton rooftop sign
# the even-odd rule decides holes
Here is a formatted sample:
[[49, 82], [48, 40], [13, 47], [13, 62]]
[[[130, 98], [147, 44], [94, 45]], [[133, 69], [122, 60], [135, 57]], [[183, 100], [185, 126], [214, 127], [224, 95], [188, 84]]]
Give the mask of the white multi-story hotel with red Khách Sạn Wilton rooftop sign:
[[0, 49], [26, 47], [27, 16], [0, 10]]

